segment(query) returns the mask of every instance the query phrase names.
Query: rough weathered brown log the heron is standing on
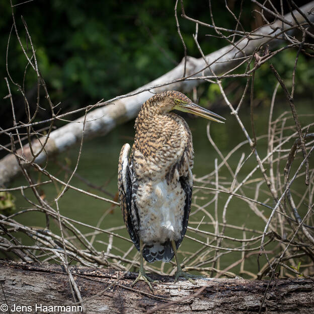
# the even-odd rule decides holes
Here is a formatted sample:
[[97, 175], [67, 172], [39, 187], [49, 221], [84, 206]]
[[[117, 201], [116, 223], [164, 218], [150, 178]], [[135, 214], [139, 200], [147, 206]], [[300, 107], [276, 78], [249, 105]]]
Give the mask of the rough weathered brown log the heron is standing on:
[[[23, 312], [34, 312], [35, 309], [66, 312], [66, 306], [74, 306], [70, 312], [82, 312], [78, 307], [81, 305], [73, 301], [63, 266], [0, 261], [0, 267], [3, 312], [9, 312], [4, 310], [6, 305], [11, 312], [18, 311], [17, 306], [24, 306]], [[173, 277], [151, 275], [160, 280], [153, 284], [154, 294], [151, 294], [143, 282], [130, 287], [137, 276], [135, 273], [123, 275], [112, 268], [71, 266], [69, 269], [87, 313], [257, 313], [268, 286], [267, 280], [222, 278], [196, 279], [195, 286], [186, 280], [175, 284]], [[313, 313], [313, 281], [294, 278], [272, 282], [262, 312]]]

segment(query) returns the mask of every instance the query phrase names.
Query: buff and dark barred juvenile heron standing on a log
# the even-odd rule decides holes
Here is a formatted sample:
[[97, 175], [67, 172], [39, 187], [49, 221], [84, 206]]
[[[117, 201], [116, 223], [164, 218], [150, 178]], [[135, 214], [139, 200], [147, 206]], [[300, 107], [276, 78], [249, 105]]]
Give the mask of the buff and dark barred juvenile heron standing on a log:
[[[140, 269], [136, 280], [144, 280], [147, 262], [177, 263], [179, 276], [194, 281], [184, 273], [177, 249], [185, 235], [193, 188], [193, 143], [188, 124], [177, 109], [223, 123], [219, 115], [194, 104], [177, 91], [167, 91], [148, 99], [135, 120], [134, 144], [124, 144], [119, 157], [118, 190], [126, 228], [140, 252]], [[216, 119], [218, 118], [218, 119]]]

